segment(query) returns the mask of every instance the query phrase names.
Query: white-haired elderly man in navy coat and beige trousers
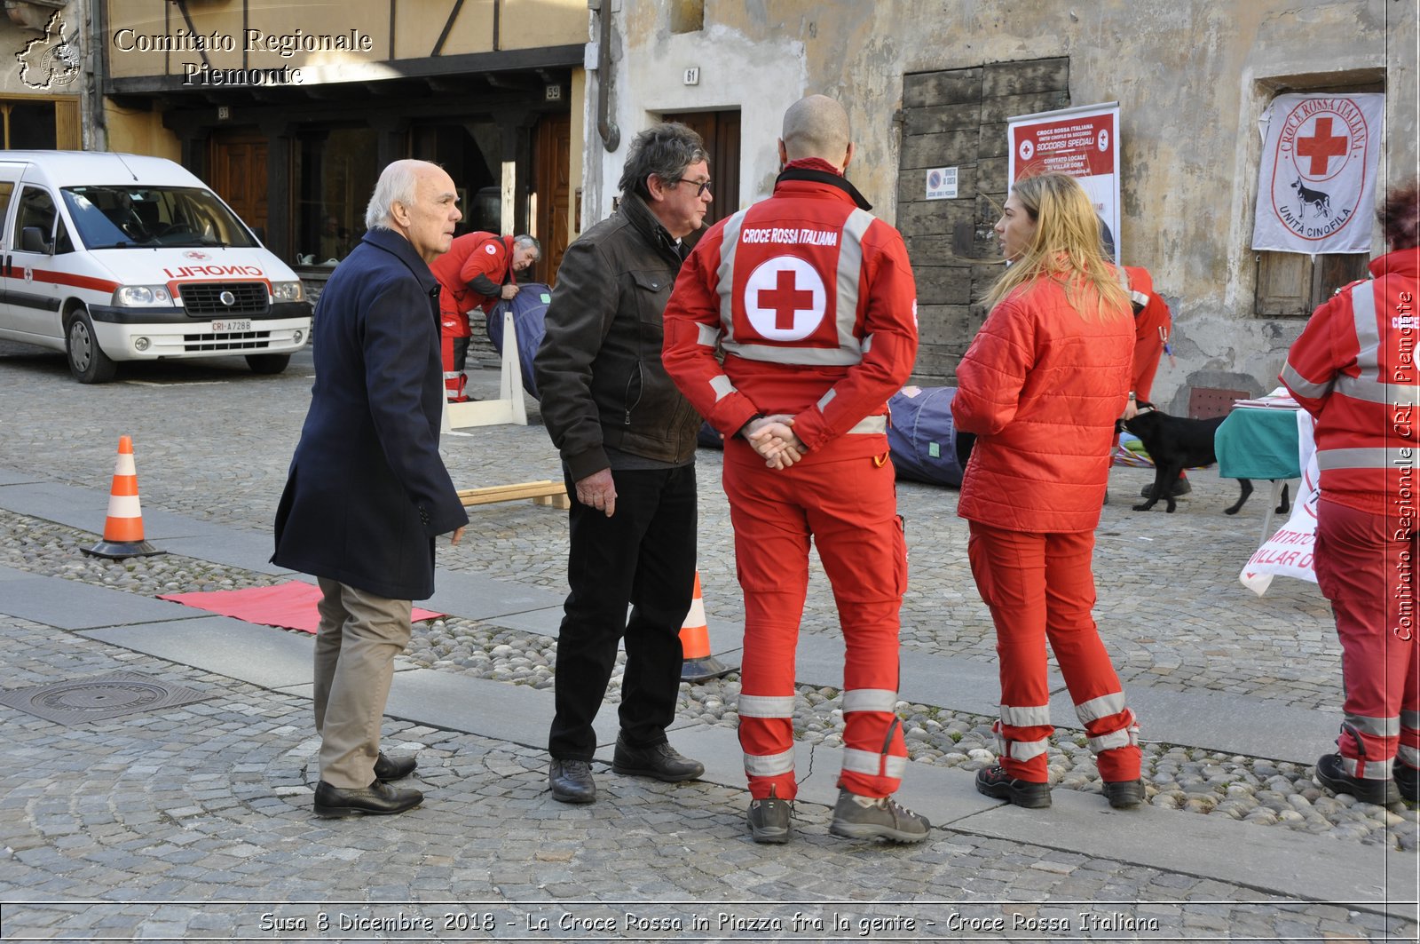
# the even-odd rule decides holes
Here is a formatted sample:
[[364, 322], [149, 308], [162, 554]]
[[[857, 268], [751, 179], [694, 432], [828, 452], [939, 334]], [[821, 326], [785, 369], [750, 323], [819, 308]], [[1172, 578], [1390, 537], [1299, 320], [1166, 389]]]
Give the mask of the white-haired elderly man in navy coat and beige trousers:
[[389, 786], [413, 758], [386, 758], [379, 725], [412, 600], [435, 590], [435, 537], [469, 515], [439, 456], [439, 283], [462, 213], [453, 181], [396, 161], [375, 183], [359, 246], [315, 309], [315, 385], [275, 516], [283, 567], [315, 574], [318, 816], [402, 813], [423, 793]]

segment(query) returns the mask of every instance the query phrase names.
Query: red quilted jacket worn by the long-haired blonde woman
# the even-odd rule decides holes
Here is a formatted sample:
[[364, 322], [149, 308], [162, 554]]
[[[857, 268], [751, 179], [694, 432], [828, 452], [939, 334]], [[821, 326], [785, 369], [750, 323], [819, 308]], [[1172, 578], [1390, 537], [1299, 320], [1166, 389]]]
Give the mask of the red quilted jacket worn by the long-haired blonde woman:
[[951, 401], [956, 428], [978, 436], [957, 515], [1008, 530], [1093, 530], [1133, 350], [1126, 307], [1085, 318], [1056, 279], [991, 309]]

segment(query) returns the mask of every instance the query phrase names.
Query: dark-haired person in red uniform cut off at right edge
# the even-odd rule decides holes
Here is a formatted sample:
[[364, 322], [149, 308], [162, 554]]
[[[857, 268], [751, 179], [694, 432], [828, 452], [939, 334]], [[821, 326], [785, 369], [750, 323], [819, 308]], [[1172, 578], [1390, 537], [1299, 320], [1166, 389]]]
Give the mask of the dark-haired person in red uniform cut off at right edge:
[[1316, 583], [1340, 637], [1339, 751], [1316, 782], [1370, 803], [1420, 800], [1416, 647], [1416, 293], [1420, 195], [1397, 188], [1380, 212], [1390, 252], [1316, 309], [1279, 380], [1316, 418]]

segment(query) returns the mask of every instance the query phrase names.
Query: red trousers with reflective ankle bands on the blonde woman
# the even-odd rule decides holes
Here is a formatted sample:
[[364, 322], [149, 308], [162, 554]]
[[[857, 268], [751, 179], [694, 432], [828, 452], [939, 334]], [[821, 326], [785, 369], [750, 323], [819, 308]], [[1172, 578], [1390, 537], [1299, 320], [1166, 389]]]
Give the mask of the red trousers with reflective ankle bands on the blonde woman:
[[1051, 732], [1045, 641], [1108, 781], [1139, 778], [1139, 725], [1091, 616], [1093, 532], [1038, 535], [970, 522], [967, 554], [995, 623], [1001, 661], [1000, 761], [1020, 781], [1045, 783]]

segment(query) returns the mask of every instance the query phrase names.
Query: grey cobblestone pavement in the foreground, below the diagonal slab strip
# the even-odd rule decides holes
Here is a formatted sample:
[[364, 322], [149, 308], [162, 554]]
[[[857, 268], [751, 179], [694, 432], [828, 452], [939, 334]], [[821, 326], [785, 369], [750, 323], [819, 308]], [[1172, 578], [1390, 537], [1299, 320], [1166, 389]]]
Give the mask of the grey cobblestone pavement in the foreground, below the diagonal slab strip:
[[[804, 803], [795, 842], [765, 849], [746, 835], [741, 790], [599, 769], [601, 802], [569, 808], [547, 795], [540, 751], [399, 722], [386, 745], [419, 751], [425, 806], [321, 820], [308, 701], [23, 620], [0, 618], [0, 634], [7, 688], [125, 670], [209, 695], [70, 728], [0, 709], [3, 940], [843, 937], [795, 933], [795, 913], [826, 928], [836, 916], [858, 940], [973, 937], [953, 921], [1015, 940], [1414, 935], [1370, 910], [1048, 844], [951, 830], [910, 847], [842, 840]], [[324, 934], [321, 914], [335, 923]], [[375, 934], [339, 933], [342, 914]], [[435, 931], [409, 927], [425, 918]], [[859, 926], [875, 918], [880, 930]]]

